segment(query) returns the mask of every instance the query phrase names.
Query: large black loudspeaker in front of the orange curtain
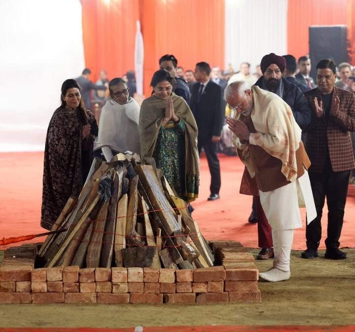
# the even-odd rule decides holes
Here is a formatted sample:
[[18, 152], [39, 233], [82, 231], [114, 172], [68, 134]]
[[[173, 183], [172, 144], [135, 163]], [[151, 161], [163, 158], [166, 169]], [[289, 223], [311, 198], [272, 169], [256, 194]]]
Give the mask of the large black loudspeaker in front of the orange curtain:
[[334, 60], [337, 66], [348, 62], [346, 25], [309, 27], [310, 75], [316, 79], [316, 66], [322, 59]]

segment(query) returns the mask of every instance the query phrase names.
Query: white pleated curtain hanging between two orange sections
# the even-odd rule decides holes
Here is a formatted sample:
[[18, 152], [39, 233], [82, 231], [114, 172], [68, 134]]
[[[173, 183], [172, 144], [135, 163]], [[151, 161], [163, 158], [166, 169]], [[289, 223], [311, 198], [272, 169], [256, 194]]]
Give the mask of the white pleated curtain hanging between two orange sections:
[[225, 69], [249, 62], [253, 73], [265, 54], [287, 54], [287, 2], [225, 0]]

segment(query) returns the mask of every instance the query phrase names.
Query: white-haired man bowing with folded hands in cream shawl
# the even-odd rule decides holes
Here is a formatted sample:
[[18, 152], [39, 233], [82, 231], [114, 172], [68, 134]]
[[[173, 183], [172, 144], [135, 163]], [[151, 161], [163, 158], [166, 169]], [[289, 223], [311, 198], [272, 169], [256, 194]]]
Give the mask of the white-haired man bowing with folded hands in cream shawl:
[[306, 206], [308, 220], [316, 214], [301, 129], [284, 100], [257, 86], [250, 88], [244, 81], [232, 83], [225, 90], [225, 99], [237, 112], [227, 123], [236, 135], [249, 184], [257, 185], [272, 229], [274, 266], [260, 277], [273, 282], [287, 280], [293, 229], [302, 227], [300, 202]]

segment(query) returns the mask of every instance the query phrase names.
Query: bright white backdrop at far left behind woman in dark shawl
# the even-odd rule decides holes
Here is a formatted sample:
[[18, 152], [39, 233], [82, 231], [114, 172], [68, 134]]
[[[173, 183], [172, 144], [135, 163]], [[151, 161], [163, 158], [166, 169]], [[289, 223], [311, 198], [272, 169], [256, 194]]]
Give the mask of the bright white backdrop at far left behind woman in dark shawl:
[[80, 75], [79, 0], [0, 0], [0, 152], [40, 151], [64, 80]]

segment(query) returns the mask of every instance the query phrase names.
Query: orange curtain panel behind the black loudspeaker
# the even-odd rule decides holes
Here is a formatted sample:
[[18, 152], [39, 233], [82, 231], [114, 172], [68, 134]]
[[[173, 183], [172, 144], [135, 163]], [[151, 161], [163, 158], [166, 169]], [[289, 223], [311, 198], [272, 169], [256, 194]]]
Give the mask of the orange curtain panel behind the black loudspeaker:
[[309, 54], [309, 26], [338, 24], [347, 24], [347, 0], [288, 0], [287, 53]]

